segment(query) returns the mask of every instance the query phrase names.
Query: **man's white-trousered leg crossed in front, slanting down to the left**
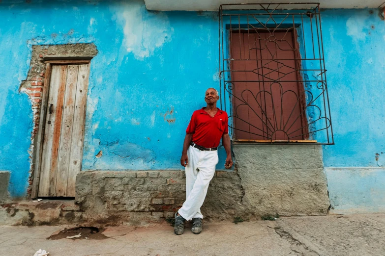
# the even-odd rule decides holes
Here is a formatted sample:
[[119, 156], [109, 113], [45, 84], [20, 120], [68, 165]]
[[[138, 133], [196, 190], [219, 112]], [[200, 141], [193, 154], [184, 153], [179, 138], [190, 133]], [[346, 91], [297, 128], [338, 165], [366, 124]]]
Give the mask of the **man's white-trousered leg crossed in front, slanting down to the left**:
[[199, 169], [197, 179], [186, 201], [178, 211], [186, 220], [193, 219], [198, 211], [200, 213], [200, 208], [206, 198], [208, 184], [215, 174], [215, 165], [218, 163], [217, 151], [201, 151], [201, 156], [197, 163]]

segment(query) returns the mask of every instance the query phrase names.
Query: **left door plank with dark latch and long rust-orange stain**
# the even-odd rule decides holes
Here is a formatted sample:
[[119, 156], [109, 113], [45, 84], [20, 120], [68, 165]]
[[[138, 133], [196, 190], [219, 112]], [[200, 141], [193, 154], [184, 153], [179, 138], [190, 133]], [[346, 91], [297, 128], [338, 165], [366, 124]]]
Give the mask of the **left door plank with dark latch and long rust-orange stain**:
[[[40, 197], [52, 196], [55, 191], [57, 154], [59, 150], [58, 140], [66, 77], [67, 66], [52, 67], [39, 181], [38, 195]], [[50, 113], [51, 104], [52, 113]]]

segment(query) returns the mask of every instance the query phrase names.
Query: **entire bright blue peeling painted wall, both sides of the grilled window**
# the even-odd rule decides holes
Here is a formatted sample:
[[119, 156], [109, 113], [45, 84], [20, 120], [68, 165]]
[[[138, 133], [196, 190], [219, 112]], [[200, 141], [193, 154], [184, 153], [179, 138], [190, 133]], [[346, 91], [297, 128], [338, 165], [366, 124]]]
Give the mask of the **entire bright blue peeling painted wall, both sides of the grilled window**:
[[[322, 12], [336, 142], [324, 147], [326, 167], [384, 166], [385, 28], [370, 11]], [[181, 168], [190, 116], [205, 105], [205, 90], [219, 87], [216, 13], [149, 12], [142, 1], [2, 1], [0, 17], [0, 170], [11, 172], [12, 197], [27, 193], [32, 112], [18, 90], [35, 44], [98, 48], [83, 169]]]

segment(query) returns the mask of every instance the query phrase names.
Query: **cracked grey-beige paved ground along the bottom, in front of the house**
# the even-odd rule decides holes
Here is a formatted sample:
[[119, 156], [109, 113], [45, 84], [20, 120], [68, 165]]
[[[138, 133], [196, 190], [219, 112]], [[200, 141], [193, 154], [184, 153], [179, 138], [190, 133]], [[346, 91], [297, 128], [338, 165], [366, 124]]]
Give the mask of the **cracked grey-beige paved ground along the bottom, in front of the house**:
[[[276, 221], [210, 223], [200, 235], [169, 224], [108, 227], [103, 240], [47, 240], [61, 227], [0, 226], [0, 255], [252, 255], [385, 256], [385, 214], [287, 217]], [[100, 236], [98, 236], [100, 238]]]

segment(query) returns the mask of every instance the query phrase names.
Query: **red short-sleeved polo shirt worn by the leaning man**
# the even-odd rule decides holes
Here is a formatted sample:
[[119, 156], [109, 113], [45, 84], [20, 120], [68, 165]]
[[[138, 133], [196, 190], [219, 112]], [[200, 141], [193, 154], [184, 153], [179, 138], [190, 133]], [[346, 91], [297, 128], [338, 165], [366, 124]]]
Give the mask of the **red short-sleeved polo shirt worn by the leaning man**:
[[203, 107], [194, 111], [186, 133], [193, 133], [192, 141], [199, 146], [215, 148], [219, 146], [222, 135], [229, 133], [228, 120], [225, 111], [218, 108], [215, 116], [211, 117]]

